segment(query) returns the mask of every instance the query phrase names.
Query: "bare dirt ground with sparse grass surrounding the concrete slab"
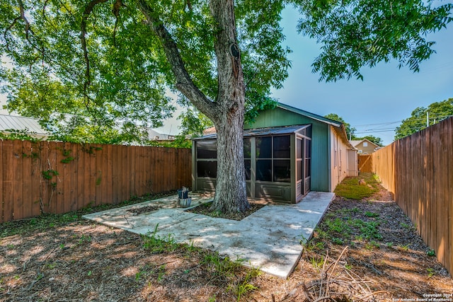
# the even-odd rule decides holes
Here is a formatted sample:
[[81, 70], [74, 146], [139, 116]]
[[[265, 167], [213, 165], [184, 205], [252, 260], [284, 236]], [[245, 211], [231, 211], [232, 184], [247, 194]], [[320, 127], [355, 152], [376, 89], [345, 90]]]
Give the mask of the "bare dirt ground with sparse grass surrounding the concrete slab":
[[385, 190], [337, 198], [286, 280], [83, 219], [49, 224], [0, 238], [0, 301], [452, 301], [452, 277]]

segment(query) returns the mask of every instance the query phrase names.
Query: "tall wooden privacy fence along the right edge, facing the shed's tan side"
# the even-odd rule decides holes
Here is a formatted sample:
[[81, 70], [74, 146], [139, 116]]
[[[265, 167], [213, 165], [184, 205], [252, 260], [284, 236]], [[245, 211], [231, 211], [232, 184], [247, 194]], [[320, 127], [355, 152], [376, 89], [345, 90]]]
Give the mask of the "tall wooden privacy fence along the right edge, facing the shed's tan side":
[[453, 273], [453, 118], [372, 154], [373, 170]]

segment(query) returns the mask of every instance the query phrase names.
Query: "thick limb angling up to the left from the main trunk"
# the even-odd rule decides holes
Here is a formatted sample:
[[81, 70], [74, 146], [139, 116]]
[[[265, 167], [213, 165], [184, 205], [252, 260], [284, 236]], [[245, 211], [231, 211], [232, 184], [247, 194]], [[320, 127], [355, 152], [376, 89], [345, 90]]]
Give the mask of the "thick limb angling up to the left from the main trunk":
[[178, 46], [164, 26], [164, 23], [156, 16], [154, 9], [145, 0], [137, 0], [140, 11], [146, 18], [149, 28], [159, 37], [166, 53], [168, 63], [176, 77], [176, 88], [185, 95], [195, 107], [203, 112], [211, 120], [217, 120], [218, 110], [216, 103], [213, 103], [207, 96], [198, 89], [185, 69], [183, 59], [180, 57]]

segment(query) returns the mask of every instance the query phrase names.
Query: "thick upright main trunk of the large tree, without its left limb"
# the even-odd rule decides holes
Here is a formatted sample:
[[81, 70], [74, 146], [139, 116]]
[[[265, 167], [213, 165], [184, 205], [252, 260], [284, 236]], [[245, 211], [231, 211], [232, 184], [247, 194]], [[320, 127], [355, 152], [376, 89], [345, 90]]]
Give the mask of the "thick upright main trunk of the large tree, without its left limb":
[[250, 208], [243, 164], [245, 86], [236, 42], [233, 0], [211, 0], [210, 10], [217, 21], [214, 48], [217, 54], [217, 107], [220, 113], [212, 118], [217, 129], [217, 186], [212, 209], [234, 213]]

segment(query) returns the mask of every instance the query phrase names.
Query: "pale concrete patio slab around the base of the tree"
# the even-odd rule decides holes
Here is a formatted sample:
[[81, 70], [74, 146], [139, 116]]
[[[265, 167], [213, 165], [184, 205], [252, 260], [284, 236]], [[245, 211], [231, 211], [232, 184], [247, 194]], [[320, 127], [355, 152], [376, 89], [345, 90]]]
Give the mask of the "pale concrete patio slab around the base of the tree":
[[[212, 200], [210, 196], [195, 193], [190, 197], [193, 207]], [[270, 204], [241, 221], [186, 212], [176, 207], [177, 196], [88, 214], [84, 218], [132, 233], [146, 235], [156, 231], [160, 238], [171, 236], [178, 243], [217, 250], [231, 260], [241, 259], [244, 265], [287, 278], [302, 255], [301, 240], [311, 238], [333, 197], [333, 193], [309, 192], [298, 204]]]

